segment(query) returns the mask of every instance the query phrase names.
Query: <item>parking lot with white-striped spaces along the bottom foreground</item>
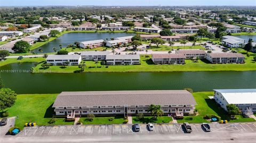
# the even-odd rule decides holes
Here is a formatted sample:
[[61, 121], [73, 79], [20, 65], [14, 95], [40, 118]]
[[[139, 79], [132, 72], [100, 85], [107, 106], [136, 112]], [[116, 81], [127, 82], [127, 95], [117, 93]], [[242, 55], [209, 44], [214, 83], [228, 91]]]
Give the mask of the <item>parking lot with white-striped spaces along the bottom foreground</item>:
[[[256, 123], [211, 123], [211, 132], [205, 132], [201, 124], [190, 124], [193, 132], [256, 132]], [[140, 131], [134, 132], [132, 124], [115, 125], [54, 125], [41, 127], [25, 127], [17, 136], [136, 136], [147, 134], [180, 134], [186, 133], [182, 124], [154, 124], [154, 131], [149, 131], [146, 124], [140, 124]]]

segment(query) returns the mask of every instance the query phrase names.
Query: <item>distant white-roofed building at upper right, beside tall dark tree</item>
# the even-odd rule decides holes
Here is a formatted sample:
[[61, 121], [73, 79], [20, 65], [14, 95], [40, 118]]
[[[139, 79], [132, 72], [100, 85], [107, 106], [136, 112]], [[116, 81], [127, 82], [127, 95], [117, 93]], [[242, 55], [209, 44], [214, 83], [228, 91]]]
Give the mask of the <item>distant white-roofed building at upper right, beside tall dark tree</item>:
[[245, 40], [234, 36], [223, 36], [221, 43], [231, 48], [239, 48], [244, 45]]

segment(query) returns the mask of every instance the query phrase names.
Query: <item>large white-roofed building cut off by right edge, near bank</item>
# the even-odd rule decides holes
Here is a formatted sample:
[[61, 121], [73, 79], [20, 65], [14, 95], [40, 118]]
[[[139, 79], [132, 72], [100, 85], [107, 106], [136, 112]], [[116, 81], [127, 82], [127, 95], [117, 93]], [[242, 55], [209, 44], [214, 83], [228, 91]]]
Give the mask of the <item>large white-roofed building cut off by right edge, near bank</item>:
[[242, 112], [256, 112], [256, 89], [214, 89], [214, 99], [226, 111], [235, 104]]

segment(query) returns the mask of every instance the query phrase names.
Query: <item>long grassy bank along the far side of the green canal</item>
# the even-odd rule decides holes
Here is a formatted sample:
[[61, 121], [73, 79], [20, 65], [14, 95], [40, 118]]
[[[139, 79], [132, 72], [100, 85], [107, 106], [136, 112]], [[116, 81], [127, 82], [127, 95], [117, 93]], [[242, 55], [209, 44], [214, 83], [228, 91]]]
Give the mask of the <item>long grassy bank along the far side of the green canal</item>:
[[[151, 57], [141, 55], [141, 65], [101, 65], [93, 61], [85, 61], [86, 68], [84, 72], [174, 72], [174, 71], [254, 71], [256, 70], [256, 62], [253, 56], [245, 55], [245, 64], [210, 64], [206, 60], [185, 60], [183, 65], [155, 65]], [[42, 69], [42, 63], [38, 64], [34, 70], [36, 73], [52, 72], [52, 73], [73, 73], [79, 71], [77, 65], [74, 66], [50, 66], [48, 69]]]

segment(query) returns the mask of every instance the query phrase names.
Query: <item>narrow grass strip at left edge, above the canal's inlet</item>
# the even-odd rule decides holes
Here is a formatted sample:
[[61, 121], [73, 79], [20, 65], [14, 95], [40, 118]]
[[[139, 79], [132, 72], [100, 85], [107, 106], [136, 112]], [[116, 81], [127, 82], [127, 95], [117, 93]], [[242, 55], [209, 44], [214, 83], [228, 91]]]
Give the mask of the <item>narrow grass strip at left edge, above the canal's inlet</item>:
[[6, 58], [6, 60], [0, 62], [0, 66], [6, 65], [6, 64], [11, 64], [11, 63], [23, 63], [23, 62], [42, 62], [45, 61], [45, 58], [43, 57], [25, 57], [22, 58], [21, 60], [17, 60], [17, 58]]

